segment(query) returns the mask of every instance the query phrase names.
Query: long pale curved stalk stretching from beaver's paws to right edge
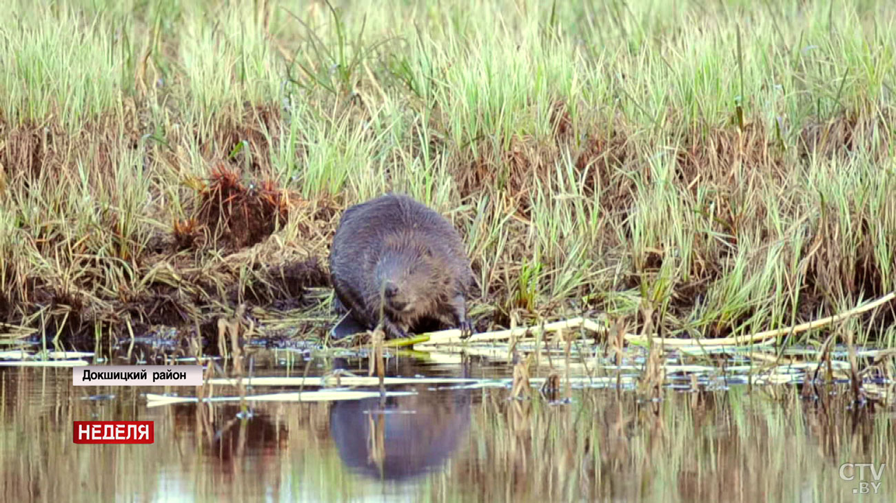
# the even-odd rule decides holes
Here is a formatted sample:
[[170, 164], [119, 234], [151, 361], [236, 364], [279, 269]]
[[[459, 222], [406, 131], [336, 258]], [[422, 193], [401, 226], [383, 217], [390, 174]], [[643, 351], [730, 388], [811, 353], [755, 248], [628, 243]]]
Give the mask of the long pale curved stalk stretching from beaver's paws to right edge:
[[[778, 337], [784, 334], [797, 334], [799, 332], [805, 332], [806, 330], [812, 328], [821, 328], [826, 325], [830, 325], [834, 321], [845, 320], [857, 314], [861, 314], [866, 311], [871, 311], [874, 308], [880, 306], [883, 303], [888, 303], [896, 298], [896, 292], [891, 292], [889, 294], [883, 295], [883, 297], [875, 300], [872, 303], [866, 303], [865, 305], [857, 306], [849, 311], [834, 314], [828, 316], [827, 318], [822, 318], [821, 320], [814, 321], [806, 321], [806, 323], [800, 323], [799, 325], [795, 325], [793, 327], [785, 327], [785, 328], [776, 328], [774, 330], [765, 330], [763, 332], [756, 333], [752, 336], [736, 336], [736, 337], [724, 337], [719, 339], [695, 339], [695, 338], [670, 338], [670, 337], [656, 337], [656, 336], [639, 336], [635, 334], [625, 334], [625, 340], [633, 344], [646, 344], [649, 338], [653, 339], [655, 343], [662, 343], [665, 345], [674, 345], [674, 346], [682, 346], [682, 345], [701, 345], [703, 347], [714, 347], [719, 345], [741, 345], [741, 344], [754, 344], [757, 342], [762, 342], [767, 339], [771, 339], [772, 337]], [[478, 334], [474, 334], [466, 339], [461, 338], [461, 330], [457, 328], [452, 328], [450, 330], [441, 330], [438, 332], [432, 332], [428, 334], [429, 340], [425, 342], [419, 342], [417, 345], [425, 346], [425, 345], [439, 345], [439, 344], [457, 344], [461, 342], [482, 342], [482, 341], [494, 341], [501, 340], [510, 337], [520, 337], [525, 336], [526, 334], [535, 334], [538, 332], [556, 332], [557, 330], [565, 329], [565, 328], [585, 328], [592, 332], [606, 332], [607, 328], [600, 325], [595, 320], [589, 320], [586, 318], [573, 318], [571, 320], [562, 320], [562, 321], [554, 321], [551, 323], [546, 323], [543, 326], [536, 327], [521, 327], [521, 328], [512, 328], [508, 330], [497, 330], [495, 332], [482, 332]]]

